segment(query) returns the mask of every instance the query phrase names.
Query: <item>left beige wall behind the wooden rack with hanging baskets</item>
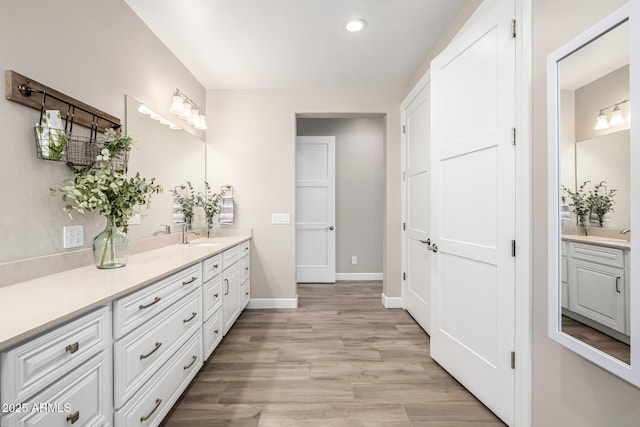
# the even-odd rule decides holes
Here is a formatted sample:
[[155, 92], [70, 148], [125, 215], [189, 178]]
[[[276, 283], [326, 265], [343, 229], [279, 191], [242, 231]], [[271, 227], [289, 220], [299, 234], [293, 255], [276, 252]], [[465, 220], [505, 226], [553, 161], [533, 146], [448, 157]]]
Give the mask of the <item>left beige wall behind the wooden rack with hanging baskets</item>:
[[[3, 72], [15, 70], [123, 124], [125, 94], [167, 117], [176, 87], [204, 107], [204, 88], [122, 0], [2, 1], [0, 52]], [[85, 247], [104, 227], [94, 214], [70, 220], [50, 197], [49, 187], [70, 173], [36, 158], [38, 118], [36, 110], [0, 99], [0, 263], [68, 252], [63, 225], [85, 225]]]

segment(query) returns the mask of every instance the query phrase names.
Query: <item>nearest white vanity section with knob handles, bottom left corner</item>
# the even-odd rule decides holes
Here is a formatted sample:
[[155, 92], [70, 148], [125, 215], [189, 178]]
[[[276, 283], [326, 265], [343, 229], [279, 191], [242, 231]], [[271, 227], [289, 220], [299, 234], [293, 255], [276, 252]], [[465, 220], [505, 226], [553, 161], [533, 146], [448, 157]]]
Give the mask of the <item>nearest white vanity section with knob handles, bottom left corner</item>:
[[111, 425], [110, 307], [3, 351], [0, 366], [2, 427]]

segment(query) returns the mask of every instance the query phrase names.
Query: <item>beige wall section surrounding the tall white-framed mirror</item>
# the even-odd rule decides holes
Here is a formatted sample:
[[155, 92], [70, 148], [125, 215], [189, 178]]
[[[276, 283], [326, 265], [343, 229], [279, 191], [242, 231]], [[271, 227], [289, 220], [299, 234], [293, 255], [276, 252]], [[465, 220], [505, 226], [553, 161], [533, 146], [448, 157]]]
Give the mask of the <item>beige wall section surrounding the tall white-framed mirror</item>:
[[533, 425], [637, 426], [640, 390], [547, 337], [546, 58], [624, 0], [533, 1]]

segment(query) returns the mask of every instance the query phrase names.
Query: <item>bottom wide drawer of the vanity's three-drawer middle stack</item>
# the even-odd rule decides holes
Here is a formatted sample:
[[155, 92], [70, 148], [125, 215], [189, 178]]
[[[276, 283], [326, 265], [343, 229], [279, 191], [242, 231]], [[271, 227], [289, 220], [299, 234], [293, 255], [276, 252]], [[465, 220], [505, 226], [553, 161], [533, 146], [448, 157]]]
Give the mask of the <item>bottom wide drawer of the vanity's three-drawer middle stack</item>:
[[202, 366], [201, 335], [194, 334], [157, 375], [125, 407], [116, 411], [114, 425], [157, 426]]

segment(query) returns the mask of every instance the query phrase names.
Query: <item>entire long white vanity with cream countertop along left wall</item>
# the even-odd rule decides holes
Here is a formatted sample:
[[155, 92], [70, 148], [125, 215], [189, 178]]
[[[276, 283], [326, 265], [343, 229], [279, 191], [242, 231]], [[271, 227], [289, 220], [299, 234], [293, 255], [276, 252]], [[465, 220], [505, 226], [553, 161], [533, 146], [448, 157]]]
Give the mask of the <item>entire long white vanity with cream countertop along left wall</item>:
[[158, 425], [249, 301], [250, 239], [0, 288], [0, 425]]

